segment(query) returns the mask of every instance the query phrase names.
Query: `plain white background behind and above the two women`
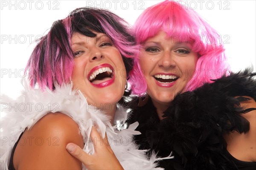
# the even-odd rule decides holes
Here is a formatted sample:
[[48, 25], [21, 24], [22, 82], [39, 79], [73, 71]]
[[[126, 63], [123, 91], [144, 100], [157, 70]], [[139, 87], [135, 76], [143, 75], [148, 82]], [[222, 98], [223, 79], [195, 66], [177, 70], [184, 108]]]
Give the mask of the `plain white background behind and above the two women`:
[[[78, 7], [107, 8], [131, 25], [143, 9], [162, 0], [0, 0], [0, 93], [15, 98], [22, 86], [26, 62], [36, 37], [55, 20]], [[253, 65], [256, 71], [255, 0], [185, 0], [215, 28], [225, 41], [233, 71]]]

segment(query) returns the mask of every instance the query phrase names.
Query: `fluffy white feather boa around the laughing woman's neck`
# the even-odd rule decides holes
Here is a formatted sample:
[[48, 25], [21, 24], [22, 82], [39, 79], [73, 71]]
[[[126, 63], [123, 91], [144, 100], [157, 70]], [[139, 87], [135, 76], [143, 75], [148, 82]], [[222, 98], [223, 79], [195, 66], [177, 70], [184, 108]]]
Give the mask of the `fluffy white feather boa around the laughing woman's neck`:
[[[111, 148], [124, 169], [162, 169], [155, 168], [155, 161], [160, 160], [155, 154], [148, 159], [145, 155], [146, 150], [138, 150], [138, 146], [133, 142], [133, 136], [140, 134], [135, 131], [138, 123], [130, 125], [128, 129], [117, 130], [116, 126], [112, 127], [107, 115], [88, 106], [80, 91], [72, 90], [72, 84], [57, 86], [53, 92], [49, 89], [44, 92], [31, 89], [25, 81], [23, 86], [25, 90], [16, 100], [1, 96], [1, 110], [6, 113], [1, 117], [1, 170], [8, 169], [12, 148], [20, 134], [26, 128], [30, 129], [47, 113], [57, 111], [70, 116], [79, 125], [84, 138], [85, 152], [93, 153], [92, 142], [88, 142], [87, 137], [90, 136], [91, 127], [97, 124], [102, 136], [107, 132], [108, 138], [115, 139], [110, 141]], [[125, 122], [127, 116], [126, 111], [118, 109], [114, 122]], [[83, 166], [82, 169], [86, 167]]]

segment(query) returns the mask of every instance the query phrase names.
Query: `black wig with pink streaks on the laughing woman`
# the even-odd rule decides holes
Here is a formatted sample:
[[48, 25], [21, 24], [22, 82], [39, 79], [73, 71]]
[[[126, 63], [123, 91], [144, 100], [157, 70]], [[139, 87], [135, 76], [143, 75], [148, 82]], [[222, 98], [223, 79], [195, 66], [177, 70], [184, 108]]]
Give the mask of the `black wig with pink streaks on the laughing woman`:
[[73, 70], [71, 36], [78, 32], [96, 37], [93, 32], [107, 34], [120, 51], [127, 75], [138, 48], [129, 25], [110, 11], [98, 8], [77, 8], [63, 20], [53, 23], [50, 31], [36, 45], [26, 66], [32, 87], [55, 89], [55, 84], [69, 82]]

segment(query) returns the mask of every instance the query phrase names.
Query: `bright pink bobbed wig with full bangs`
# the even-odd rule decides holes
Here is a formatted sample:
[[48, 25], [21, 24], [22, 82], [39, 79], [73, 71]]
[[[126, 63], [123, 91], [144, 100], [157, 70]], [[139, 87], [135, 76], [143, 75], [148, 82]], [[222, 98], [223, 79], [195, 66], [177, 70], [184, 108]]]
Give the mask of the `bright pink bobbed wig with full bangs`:
[[[220, 35], [194, 10], [181, 5], [182, 2], [166, 0], [147, 8], [134, 24], [137, 44], [143, 44], [163, 30], [175, 40], [189, 42], [198, 53], [195, 74], [186, 85], [192, 91], [212, 79], [228, 74], [229, 65], [224, 54]], [[134, 94], [145, 93], [147, 85], [139, 65], [139, 53], [130, 72], [131, 89]]]

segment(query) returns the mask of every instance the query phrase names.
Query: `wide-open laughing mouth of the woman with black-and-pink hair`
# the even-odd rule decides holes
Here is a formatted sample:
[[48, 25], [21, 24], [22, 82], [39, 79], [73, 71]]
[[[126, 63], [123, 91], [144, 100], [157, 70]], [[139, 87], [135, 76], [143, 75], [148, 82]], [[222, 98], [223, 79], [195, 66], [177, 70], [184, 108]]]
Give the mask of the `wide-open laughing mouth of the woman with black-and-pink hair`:
[[88, 74], [88, 80], [98, 88], [111, 85], [114, 82], [112, 66], [103, 64], [93, 68]]

